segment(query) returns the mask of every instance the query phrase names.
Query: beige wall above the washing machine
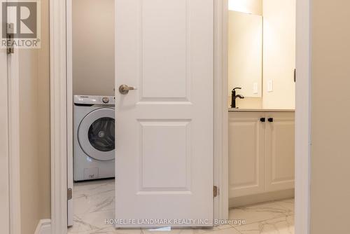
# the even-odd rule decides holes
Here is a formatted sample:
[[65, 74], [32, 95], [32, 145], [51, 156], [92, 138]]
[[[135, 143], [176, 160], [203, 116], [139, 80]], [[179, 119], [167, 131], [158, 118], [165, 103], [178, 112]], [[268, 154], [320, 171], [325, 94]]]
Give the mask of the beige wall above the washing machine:
[[73, 0], [73, 94], [114, 95], [114, 1]]

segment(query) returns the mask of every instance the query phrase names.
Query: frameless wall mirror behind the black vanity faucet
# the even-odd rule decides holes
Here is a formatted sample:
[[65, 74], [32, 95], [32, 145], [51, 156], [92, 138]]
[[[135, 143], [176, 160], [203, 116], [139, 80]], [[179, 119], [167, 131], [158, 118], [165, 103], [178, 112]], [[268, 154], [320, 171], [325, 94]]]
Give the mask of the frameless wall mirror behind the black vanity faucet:
[[229, 11], [228, 95], [262, 97], [262, 16]]

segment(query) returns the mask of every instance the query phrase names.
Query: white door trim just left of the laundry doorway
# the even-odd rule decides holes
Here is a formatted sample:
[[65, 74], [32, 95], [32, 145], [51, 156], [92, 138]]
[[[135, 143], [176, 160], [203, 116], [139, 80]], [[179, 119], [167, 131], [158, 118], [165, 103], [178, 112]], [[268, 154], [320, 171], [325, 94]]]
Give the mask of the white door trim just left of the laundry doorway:
[[66, 1], [50, 0], [51, 230], [67, 233]]

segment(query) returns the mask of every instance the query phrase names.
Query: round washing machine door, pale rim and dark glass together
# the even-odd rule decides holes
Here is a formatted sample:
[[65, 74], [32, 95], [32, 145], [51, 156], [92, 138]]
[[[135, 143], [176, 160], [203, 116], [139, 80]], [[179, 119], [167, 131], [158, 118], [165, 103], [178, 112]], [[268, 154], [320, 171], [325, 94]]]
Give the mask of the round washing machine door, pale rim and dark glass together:
[[95, 160], [115, 158], [114, 109], [100, 108], [88, 113], [80, 122], [78, 142], [80, 148]]

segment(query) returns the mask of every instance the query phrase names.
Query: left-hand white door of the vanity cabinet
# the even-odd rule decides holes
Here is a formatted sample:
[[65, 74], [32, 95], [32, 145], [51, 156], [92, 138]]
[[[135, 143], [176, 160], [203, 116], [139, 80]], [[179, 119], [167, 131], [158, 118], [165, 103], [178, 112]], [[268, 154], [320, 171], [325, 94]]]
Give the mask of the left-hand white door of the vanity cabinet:
[[265, 113], [229, 113], [229, 197], [265, 191]]

